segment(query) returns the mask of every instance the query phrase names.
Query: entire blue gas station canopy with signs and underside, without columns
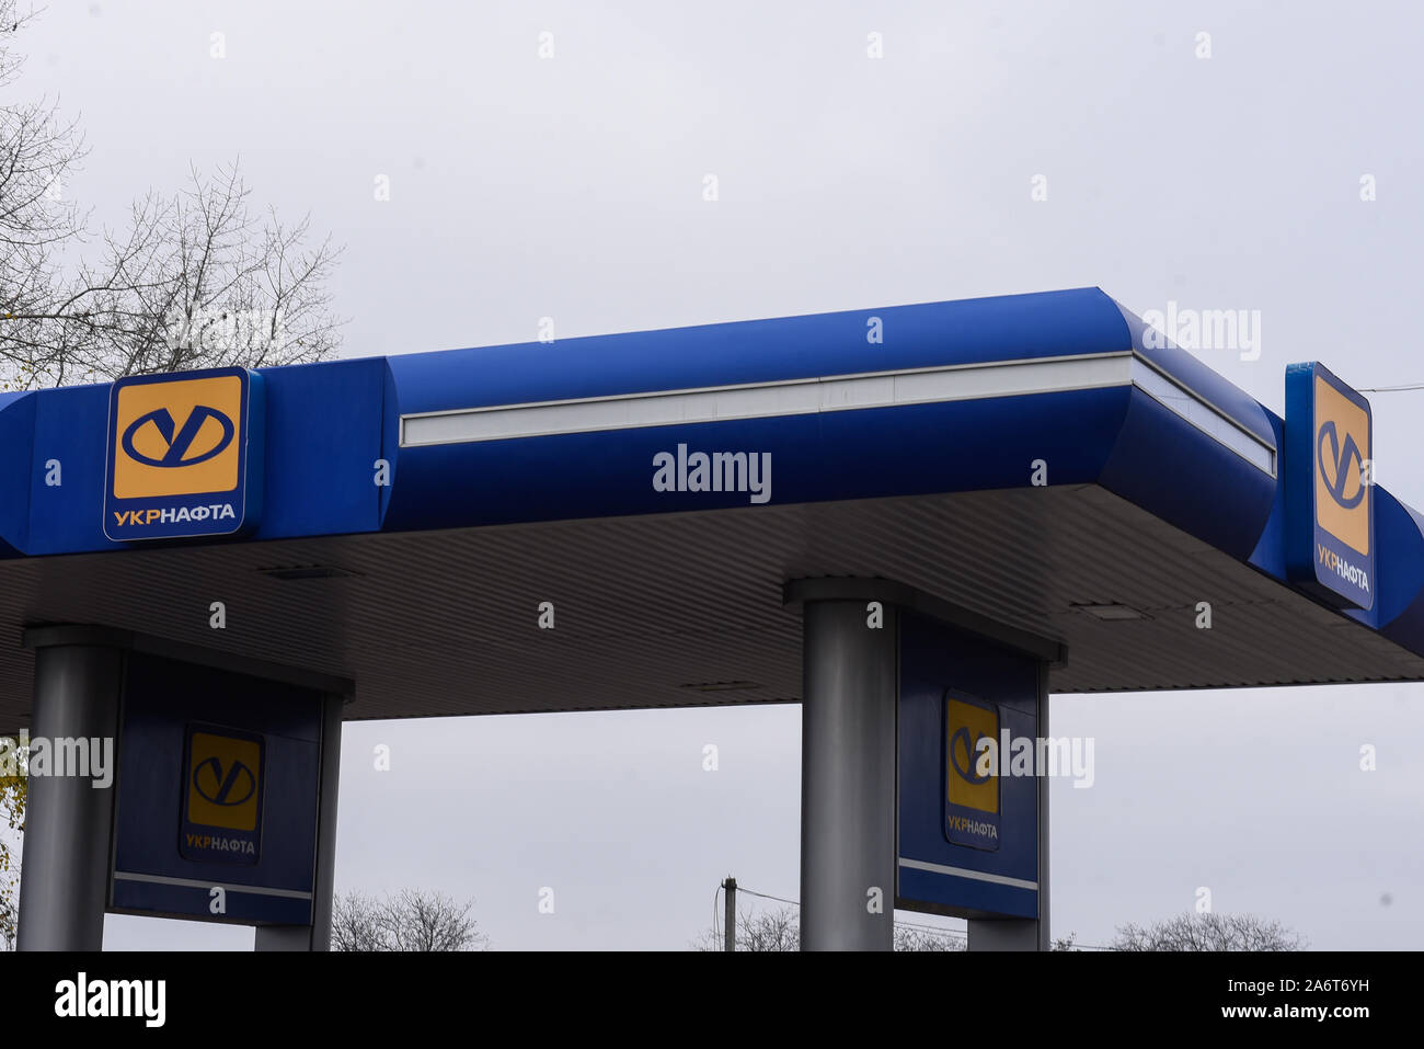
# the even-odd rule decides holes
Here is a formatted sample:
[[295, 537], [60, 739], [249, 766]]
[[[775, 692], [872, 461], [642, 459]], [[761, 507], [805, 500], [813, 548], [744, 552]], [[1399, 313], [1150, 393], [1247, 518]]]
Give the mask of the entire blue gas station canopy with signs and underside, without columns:
[[[1143, 332], [1089, 288], [263, 369], [242, 412], [0, 395], [0, 733], [64, 623], [350, 678], [347, 718], [795, 701], [820, 577], [1021, 631], [1058, 693], [1424, 678], [1424, 519], [1373, 486], [1368, 607], [1300, 586], [1284, 420]], [[162, 489], [202, 463], [238, 515]]]

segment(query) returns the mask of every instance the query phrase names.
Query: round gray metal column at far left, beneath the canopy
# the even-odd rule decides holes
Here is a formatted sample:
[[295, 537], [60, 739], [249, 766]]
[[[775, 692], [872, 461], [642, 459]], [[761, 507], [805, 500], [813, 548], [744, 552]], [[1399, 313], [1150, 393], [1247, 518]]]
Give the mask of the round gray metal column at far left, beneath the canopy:
[[[37, 647], [31, 738], [108, 740], [118, 758], [122, 654], [91, 644]], [[114, 788], [87, 775], [36, 775], [24, 822], [20, 951], [98, 951], [108, 904]]]

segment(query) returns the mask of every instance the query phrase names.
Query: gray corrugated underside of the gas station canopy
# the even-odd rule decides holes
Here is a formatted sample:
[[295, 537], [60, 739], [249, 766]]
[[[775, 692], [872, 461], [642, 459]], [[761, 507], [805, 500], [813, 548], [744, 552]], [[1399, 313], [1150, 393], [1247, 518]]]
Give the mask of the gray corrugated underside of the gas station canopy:
[[[34, 623], [349, 677], [352, 718], [793, 701], [782, 584], [806, 576], [891, 579], [1061, 639], [1058, 693], [1424, 680], [1374, 631], [1079, 486], [6, 562], [0, 731], [28, 720]], [[1115, 603], [1145, 619], [1074, 607]]]

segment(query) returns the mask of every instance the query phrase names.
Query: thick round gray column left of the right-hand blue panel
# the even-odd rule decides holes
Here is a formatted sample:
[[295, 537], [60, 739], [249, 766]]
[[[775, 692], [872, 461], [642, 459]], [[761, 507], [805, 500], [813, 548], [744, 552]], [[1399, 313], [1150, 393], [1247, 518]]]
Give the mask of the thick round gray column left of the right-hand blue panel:
[[899, 633], [866, 606], [803, 606], [802, 951], [894, 945]]

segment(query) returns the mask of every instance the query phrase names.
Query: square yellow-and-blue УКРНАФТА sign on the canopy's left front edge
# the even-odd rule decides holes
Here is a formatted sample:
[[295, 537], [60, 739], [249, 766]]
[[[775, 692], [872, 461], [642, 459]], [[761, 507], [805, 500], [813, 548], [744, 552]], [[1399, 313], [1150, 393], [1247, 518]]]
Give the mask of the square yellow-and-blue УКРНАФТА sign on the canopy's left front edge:
[[262, 509], [262, 376], [245, 368], [120, 379], [108, 395], [104, 534], [226, 536]]

